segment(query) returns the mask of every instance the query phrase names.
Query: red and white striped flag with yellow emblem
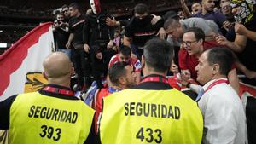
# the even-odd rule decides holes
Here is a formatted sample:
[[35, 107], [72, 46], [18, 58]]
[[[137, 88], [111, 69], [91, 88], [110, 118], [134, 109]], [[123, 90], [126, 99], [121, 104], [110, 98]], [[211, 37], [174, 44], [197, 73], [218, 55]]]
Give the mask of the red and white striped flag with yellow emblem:
[[52, 23], [35, 27], [0, 55], [0, 101], [36, 91], [44, 84], [43, 60], [54, 50]]

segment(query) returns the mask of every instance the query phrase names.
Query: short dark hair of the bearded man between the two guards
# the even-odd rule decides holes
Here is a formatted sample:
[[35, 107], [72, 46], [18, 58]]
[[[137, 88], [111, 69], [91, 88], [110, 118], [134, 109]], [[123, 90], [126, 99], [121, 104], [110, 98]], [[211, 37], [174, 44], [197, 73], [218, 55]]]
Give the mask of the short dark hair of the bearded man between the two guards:
[[108, 76], [112, 84], [119, 84], [119, 78], [125, 76], [125, 66], [128, 65], [129, 64], [126, 62], [118, 61], [117, 63], [114, 63], [113, 66], [110, 66], [110, 68], [108, 69]]

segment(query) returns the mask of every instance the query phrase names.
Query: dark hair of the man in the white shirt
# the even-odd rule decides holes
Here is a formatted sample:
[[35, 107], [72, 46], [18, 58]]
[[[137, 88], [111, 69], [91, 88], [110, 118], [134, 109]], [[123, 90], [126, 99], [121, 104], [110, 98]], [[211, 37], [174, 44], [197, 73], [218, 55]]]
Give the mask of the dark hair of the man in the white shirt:
[[207, 50], [207, 61], [210, 65], [218, 64], [220, 74], [227, 76], [232, 68], [234, 57], [230, 49], [217, 47]]

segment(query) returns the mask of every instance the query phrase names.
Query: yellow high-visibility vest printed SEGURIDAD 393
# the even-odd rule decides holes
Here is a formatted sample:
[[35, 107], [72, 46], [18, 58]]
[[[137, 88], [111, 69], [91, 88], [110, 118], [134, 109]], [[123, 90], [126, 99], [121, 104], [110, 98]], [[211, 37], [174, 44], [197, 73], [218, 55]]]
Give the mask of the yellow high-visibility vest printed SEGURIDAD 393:
[[94, 110], [80, 100], [38, 92], [17, 95], [10, 108], [9, 143], [83, 143]]

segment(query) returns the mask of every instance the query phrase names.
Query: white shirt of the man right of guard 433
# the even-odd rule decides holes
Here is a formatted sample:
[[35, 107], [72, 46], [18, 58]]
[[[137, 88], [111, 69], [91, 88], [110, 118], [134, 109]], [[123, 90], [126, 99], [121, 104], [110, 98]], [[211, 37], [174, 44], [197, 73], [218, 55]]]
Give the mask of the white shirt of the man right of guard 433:
[[247, 141], [247, 124], [241, 100], [226, 83], [216, 84], [207, 90], [216, 80], [219, 79], [203, 86], [205, 93], [198, 101], [204, 127], [207, 128], [203, 141], [211, 144], [244, 144]]

